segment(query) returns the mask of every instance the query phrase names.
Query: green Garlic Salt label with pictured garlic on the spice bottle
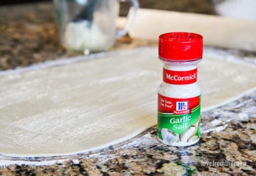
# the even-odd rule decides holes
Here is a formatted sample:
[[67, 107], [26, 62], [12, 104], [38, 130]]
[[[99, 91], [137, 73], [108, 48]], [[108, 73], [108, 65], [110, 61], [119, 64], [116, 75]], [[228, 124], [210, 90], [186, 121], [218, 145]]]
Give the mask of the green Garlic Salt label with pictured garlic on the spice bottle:
[[[163, 99], [163, 96], [161, 96], [161, 98]], [[188, 105], [191, 101], [184, 101], [184, 99], [180, 101], [179, 99], [175, 99], [173, 102], [174, 103], [172, 104], [176, 104], [175, 110], [173, 110], [174, 113], [158, 112], [157, 136], [161, 142], [167, 145], [192, 145], [200, 138], [200, 100], [199, 105], [195, 108], [192, 108], [191, 110], [188, 108], [188, 110], [182, 111], [187, 112], [186, 114], [179, 114], [177, 109], [182, 108], [182, 105]], [[188, 103], [179, 104], [180, 102]]]

